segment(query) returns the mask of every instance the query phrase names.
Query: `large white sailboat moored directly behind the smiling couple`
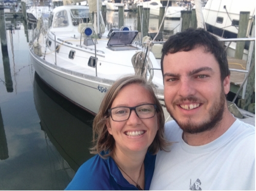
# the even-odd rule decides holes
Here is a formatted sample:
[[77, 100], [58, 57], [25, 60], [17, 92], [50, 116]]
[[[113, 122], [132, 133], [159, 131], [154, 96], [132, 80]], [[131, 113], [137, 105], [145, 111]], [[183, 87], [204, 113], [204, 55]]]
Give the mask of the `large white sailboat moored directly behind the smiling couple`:
[[[139, 56], [145, 54], [145, 48], [143, 51], [136, 39], [138, 31], [122, 27], [104, 32], [101, 16], [94, 17], [94, 21], [99, 21], [97, 24], [86, 23], [86, 13], [86, 6], [60, 6], [53, 10], [48, 31], [34, 37], [29, 48], [31, 62], [40, 78], [95, 114], [105, 92], [117, 79], [142, 70], [144, 77], [156, 87], [164, 107], [160, 66], [150, 51], [145, 60]], [[164, 112], [170, 120], [165, 108]]]

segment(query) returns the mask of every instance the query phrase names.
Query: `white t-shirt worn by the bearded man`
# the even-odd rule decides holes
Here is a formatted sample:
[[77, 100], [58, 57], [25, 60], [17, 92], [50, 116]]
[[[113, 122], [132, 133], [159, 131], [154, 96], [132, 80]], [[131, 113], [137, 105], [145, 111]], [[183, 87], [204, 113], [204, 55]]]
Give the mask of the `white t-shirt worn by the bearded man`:
[[236, 120], [211, 143], [190, 146], [173, 120], [166, 137], [175, 143], [158, 152], [151, 190], [255, 190], [254, 126]]

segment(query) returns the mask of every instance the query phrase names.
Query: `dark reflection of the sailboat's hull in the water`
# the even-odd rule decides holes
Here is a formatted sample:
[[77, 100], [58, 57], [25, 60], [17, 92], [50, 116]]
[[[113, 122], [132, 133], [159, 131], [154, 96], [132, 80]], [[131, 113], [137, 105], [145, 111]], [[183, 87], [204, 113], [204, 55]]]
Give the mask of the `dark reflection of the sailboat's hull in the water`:
[[[42, 130], [61, 157], [77, 171], [79, 166], [93, 156], [89, 154], [88, 148], [92, 145], [94, 116], [53, 91], [37, 73], [34, 75], [33, 94]], [[60, 163], [64, 169], [69, 168], [67, 164], [63, 165], [63, 160]], [[71, 178], [74, 176], [73, 170], [67, 171], [72, 174], [69, 175]]]

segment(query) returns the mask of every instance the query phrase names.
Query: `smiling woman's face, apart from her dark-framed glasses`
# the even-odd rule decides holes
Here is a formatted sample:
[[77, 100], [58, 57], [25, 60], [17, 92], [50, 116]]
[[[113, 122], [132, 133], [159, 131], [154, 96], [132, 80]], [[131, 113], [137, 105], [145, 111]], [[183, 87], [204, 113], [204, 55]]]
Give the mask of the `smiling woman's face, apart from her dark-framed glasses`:
[[[150, 92], [138, 84], [130, 84], [121, 89], [111, 108], [135, 107], [141, 104], [155, 104]], [[135, 110], [129, 119], [121, 122], [109, 117], [108, 132], [115, 139], [116, 149], [121, 151], [147, 151], [158, 130], [157, 113], [153, 118], [140, 119]]]

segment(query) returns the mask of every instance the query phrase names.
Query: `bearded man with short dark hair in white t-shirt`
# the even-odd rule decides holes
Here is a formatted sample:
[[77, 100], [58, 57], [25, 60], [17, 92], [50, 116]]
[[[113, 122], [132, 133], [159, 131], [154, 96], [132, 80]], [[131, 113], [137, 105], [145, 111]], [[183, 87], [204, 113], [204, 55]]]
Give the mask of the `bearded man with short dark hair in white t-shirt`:
[[170, 152], [159, 151], [150, 189], [255, 190], [255, 127], [229, 112], [227, 56], [204, 29], [164, 43], [164, 101]]

